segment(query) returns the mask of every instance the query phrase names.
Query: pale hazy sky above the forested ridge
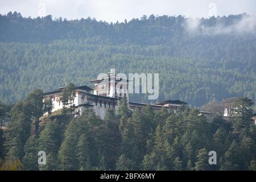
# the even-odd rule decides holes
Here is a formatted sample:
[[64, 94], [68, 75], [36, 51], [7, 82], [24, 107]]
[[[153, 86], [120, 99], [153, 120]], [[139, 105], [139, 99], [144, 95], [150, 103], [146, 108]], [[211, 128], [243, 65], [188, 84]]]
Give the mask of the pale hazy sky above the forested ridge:
[[247, 13], [256, 15], [255, 0], [0, 0], [0, 14], [17, 11], [22, 16], [51, 14], [53, 18], [96, 18], [123, 22], [142, 15], [185, 15], [205, 17]]

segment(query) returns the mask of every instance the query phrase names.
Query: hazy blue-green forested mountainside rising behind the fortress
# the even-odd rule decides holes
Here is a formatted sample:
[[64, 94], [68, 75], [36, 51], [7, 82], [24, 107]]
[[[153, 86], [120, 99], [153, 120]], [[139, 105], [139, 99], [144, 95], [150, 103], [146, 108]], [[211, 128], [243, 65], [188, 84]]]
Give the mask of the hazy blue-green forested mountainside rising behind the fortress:
[[[256, 93], [256, 25], [247, 14], [193, 20], [142, 16], [107, 23], [0, 15], [0, 101], [14, 104], [35, 88], [89, 85], [99, 73], [159, 73], [158, 101], [191, 106]], [[131, 94], [131, 101], [148, 101]]]

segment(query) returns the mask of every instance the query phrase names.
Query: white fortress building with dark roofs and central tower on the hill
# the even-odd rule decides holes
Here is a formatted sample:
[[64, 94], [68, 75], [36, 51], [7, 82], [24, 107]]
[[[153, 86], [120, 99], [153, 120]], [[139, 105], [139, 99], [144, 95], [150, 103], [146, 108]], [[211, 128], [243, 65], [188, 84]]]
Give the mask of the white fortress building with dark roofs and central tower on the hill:
[[[106, 109], [118, 110], [120, 100], [122, 97], [126, 96], [128, 100], [128, 106], [130, 110], [134, 110], [135, 107], [141, 109], [142, 107], [148, 105], [138, 102], [130, 102], [128, 93], [128, 82], [131, 80], [126, 80], [119, 78], [115, 75], [113, 69], [107, 74], [108, 76], [102, 79], [91, 80], [94, 83], [94, 89], [89, 86], [82, 85], [76, 86], [75, 97], [72, 101], [69, 101], [75, 109], [75, 117], [81, 115], [86, 107], [93, 107], [96, 115], [101, 119], [105, 117]], [[122, 81], [122, 85], [117, 88], [118, 82]], [[60, 100], [61, 91], [65, 88], [56, 88], [50, 92], [44, 92], [43, 102], [46, 99], [51, 99], [53, 104], [52, 112], [63, 109], [63, 103]], [[117, 92], [118, 91], [118, 92]], [[93, 93], [90, 93], [93, 92]], [[177, 110], [181, 105], [186, 105], [187, 103], [180, 100], [166, 100], [156, 104], [150, 104], [153, 109], [161, 109], [162, 107], [167, 107], [169, 109]]]

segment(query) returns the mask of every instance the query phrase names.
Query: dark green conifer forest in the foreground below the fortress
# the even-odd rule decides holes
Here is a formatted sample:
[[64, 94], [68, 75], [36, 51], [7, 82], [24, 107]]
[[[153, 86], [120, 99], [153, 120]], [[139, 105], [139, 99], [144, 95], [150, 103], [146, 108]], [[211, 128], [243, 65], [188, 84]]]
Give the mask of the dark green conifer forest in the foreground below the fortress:
[[[0, 130], [0, 170], [256, 170], [248, 98], [233, 99], [229, 121], [216, 115], [209, 122], [184, 105], [176, 113], [150, 105], [131, 112], [126, 97], [104, 119], [90, 108], [74, 118], [72, 107], [43, 116], [42, 97], [36, 89], [11, 108], [0, 104], [0, 117], [9, 118]], [[44, 165], [39, 151], [46, 152]], [[209, 151], [216, 151], [216, 165], [209, 165]]]

